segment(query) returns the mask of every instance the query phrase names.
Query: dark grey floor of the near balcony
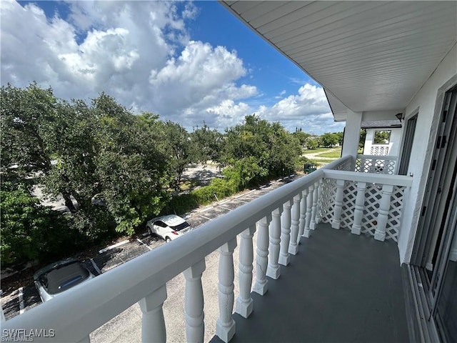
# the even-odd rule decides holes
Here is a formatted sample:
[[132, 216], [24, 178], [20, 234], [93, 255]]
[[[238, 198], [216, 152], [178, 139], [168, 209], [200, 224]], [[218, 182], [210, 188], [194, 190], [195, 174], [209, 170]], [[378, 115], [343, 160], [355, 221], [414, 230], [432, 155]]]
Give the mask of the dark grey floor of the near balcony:
[[[231, 342], [409, 342], [396, 242], [319, 224]], [[214, 337], [211, 342], [221, 342]]]

